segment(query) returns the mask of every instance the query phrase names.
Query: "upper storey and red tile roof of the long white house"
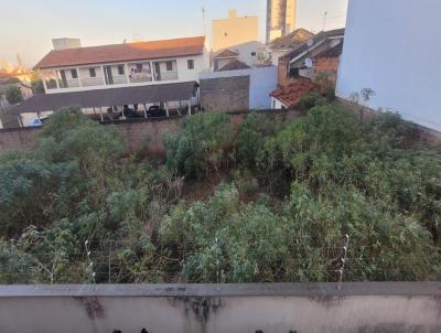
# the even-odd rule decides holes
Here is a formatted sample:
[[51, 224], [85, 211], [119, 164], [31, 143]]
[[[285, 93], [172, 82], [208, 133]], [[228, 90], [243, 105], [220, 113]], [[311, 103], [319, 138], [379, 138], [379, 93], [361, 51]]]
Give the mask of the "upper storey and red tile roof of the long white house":
[[208, 67], [204, 37], [54, 50], [35, 65], [46, 94], [195, 82]]

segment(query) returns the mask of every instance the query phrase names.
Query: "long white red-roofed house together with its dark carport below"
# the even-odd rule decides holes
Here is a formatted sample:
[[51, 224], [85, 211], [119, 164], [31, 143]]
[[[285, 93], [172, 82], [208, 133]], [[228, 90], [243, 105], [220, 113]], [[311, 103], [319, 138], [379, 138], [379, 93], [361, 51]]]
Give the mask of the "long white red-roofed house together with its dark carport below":
[[12, 111], [40, 117], [77, 105], [86, 112], [99, 112], [103, 119], [103, 110], [121, 111], [128, 106], [137, 111], [139, 107], [146, 117], [149, 106], [158, 104], [166, 111], [181, 108], [182, 103], [190, 109], [197, 104], [198, 74], [207, 68], [209, 54], [204, 36], [56, 47], [35, 65], [46, 94], [25, 100]]

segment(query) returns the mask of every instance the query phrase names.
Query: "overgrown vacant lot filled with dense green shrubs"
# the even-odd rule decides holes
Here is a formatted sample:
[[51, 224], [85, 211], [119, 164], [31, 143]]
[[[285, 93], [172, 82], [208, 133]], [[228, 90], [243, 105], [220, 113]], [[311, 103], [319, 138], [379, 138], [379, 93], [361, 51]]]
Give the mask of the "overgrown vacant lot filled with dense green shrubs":
[[200, 114], [159, 162], [60, 111], [0, 155], [0, 282], [336, 281], [344, 257], [344, 281], [438, 280], [441, 151], [411, 136], [327, 105], [237, 133]]

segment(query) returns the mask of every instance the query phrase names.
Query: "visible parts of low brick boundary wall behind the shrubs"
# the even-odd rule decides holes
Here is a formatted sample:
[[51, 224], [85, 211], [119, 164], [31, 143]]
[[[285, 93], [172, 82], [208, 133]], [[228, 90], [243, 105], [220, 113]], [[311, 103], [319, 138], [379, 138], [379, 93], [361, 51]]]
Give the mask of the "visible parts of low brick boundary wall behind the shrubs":
[[[261, 111], [267, 117], [273, 117], [288, 121], [300, 117], [295, 110], [289, 111]], [[233, 130], [237, 130], [238, 125], [249, 111], [228, 112], [232, 119]], [[151, 153], [161, 154], [165, 151], [163, 138], [165, 135], [176, 135], [185, 120], [183, 117], [173, 117], [154, 120], [125, 120], [106, 123], [115, 126], [127, 142], [129, 151], [148, 150]], [[0, 153], [8, 150], [22, 150], [32, 148], [39, 137], [40, 128], [17, 128], [0, 129]]]

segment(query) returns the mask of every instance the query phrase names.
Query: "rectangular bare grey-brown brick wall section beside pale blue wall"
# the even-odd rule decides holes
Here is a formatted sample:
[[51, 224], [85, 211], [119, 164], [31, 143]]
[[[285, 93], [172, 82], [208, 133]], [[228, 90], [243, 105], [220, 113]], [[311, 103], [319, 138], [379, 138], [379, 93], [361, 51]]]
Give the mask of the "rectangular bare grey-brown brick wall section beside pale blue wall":
[[249, 109], [249, 76], [204, 78], [200, 84], [204, 110]]

